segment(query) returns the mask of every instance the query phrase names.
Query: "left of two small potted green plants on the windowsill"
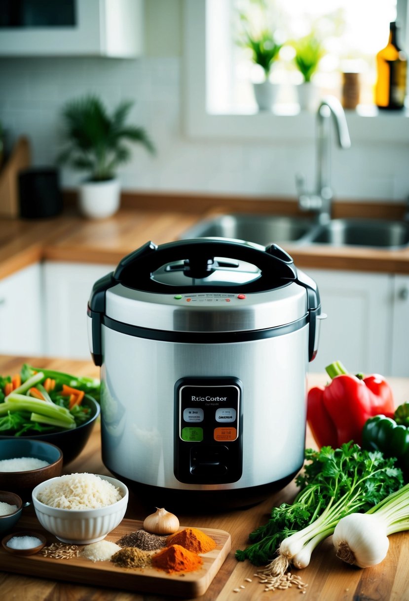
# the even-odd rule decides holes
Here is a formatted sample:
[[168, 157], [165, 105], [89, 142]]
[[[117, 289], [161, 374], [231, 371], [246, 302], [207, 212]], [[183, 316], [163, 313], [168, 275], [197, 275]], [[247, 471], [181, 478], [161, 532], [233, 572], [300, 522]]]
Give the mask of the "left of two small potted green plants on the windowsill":
[[276, 86], [269, 81], [269, 77], [272, 67], [278, 59], [282, 43], [278, 41], [275, 32], [270, 29], [261, 28], [255, 31], [245, 14], [240, 14], [240, 20], [242, 35], [237, 43], [250, 50], [252, 62], [261, 67], [264, 75], [263, 82], [252, 84], [255, 100], [260, 111], [269, 111], [274, 103], [276, 91]]

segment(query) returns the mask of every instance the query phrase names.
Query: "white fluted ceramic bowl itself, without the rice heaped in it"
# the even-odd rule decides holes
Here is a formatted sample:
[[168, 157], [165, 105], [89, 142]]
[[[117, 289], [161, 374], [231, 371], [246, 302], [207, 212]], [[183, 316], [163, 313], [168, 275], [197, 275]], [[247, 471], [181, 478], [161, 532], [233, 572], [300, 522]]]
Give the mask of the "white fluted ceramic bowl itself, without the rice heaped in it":
[[44, 486], [48, 486], [58, 478], [51, 478], [51, 480], [38, 484], [32, 492], [32, 502], [41, 526], [62, 542], [74, 543], [74, 545], [89, 545], [105, 538], [109, 532], [122, 522], [127, 510], [129, 494], [127, 487], [121, 481], [103, 475], [100, 475], [100, 478], [119, 488], [122, 499], [112, 505], [98, 509], [49, 507], [49, 505], [38, 501], [37, 495]]

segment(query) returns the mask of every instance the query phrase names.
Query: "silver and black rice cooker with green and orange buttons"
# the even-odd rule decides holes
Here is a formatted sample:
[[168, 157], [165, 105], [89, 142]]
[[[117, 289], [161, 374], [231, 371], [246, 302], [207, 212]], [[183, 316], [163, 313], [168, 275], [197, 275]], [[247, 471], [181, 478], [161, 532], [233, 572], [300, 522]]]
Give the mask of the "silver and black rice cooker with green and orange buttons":
[[123, 258], [88, 305], [104, 465], [170, 507], [284, 487], [303, 465], [320, 317], [317, 285], [275, 244], [148, 242]]

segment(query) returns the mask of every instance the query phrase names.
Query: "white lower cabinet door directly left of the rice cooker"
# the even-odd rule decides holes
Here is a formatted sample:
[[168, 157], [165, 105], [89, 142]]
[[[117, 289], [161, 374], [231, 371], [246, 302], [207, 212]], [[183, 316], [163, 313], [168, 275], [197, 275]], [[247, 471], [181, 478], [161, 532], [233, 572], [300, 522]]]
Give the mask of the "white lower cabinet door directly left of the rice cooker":
[[47, 355], [91, 359], [86, 319], [89, 296], [97, 279], [115, 266], [46, 261], [43, 269]]

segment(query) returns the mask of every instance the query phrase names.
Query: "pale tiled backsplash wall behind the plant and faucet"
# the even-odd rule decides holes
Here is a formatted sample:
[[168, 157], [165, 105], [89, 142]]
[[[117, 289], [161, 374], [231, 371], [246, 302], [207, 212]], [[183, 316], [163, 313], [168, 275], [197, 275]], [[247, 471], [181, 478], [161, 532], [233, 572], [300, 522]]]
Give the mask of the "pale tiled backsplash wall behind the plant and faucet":
[[[61, 147], [64, 103], [98, 94], [109, 109], [120, 100], [135, 105], [130, 122], [143, 126], [157, 147], [151, 156], [136, 145], [121, 166], [125, 190], [193, 191], [255, 197], [296, 194], [294, 175], [314, 185], [314, 141], [193, 139], [184, 131], [180, 56], [134, 60], [107, 58], [0, 59], [0, 121], [13, 141], [26, 135], [34, 165], [52, 165]], [[409, 194], [409, 140], [356, 143], [332, 149], [332, 183], [340, 199], [405, 200]], [[75, 186], [77, 172], [62, 170], [62, 184]]]

